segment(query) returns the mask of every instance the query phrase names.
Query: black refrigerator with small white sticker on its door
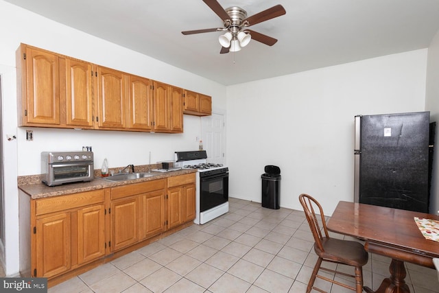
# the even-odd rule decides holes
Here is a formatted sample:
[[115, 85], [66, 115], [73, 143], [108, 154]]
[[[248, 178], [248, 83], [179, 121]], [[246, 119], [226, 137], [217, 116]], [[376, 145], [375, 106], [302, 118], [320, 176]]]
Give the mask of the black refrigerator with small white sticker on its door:
[[428, 213], [430, 127], [429, 112], [355, 116], [355, 202]]

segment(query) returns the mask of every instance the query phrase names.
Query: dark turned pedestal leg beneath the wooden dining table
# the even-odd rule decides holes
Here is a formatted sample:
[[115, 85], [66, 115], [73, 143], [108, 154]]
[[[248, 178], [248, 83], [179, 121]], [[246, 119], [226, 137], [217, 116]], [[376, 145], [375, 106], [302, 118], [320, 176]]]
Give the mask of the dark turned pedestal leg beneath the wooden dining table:
[[364, 287], [367, 293], [410, 293], [409, 286], [404, 279], [405, 272], [404, 261], [392, 259], [390, 263], [390, 277], [383, 280], [377, 291], [372, 291], [368, 287]]

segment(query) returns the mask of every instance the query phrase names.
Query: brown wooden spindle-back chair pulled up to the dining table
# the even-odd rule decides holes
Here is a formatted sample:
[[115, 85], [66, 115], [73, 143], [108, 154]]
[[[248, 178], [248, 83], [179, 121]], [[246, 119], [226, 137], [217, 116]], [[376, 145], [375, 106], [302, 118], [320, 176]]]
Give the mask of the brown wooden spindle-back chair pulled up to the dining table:
[[[361, 293], [363, 291], [362, 267], [368, 262], [368, 253], [366, 250], [364, 250], [364, 246], [355, 241], [330, 238], [327, 230], [327, 224], [324, 220], [323, 209], [318, 201], [307, 194], [300, 194], [299, 201], [300, 204], [302, 204], [303, 210], [305, 211], [309, 228], [311, 228], [311, 232], [313, 233], [315, 240], [314, 250], [318, 255], [316, 266], [314, 266], [311, 279], [309, 279], [307, 293], [311, 292], [311, 289], [317, 290], [318, 292], [324, 292], [319, 288], [313, 287], [316, 277], [331, 283], [335, 283], [344, 288], [354, 290], [357, 293]], [[316, 212], [318, 214], [316, 214]], [[320, 228], [319, 218], [321, 220], [322, 228]], [[337, 272], [329, 268], [322, 268], [322, 261], [353, 266], [355, 267], [355, 275]], [[355, 288], [324, 277], [318, 274], [319, 270], [325, 270], [334, 274], [342, 274], [347, 277], [353, 277], [355, 278]]]

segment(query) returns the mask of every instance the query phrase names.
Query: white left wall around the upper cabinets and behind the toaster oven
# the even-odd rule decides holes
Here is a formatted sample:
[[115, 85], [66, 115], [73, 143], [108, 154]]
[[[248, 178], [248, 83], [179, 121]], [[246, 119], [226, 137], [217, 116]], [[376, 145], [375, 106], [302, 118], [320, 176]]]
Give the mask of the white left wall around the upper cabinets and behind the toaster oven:
[[[91, 20], [93, 21], [93, 20]], [[17, 176], [40, 174], [43, 150], [80, 150], [91, 145], [95, 152], [95, 169], [108, 159], [110, 167], [173, 159], [176, 150], [198, 149], [195, 137], [201, 135], [199, 117], [185, 115], [184, 134], [158, 134], [93, 130], [55, 130], [34, 128], [34, 141], [25, 141], [25, 130], [16, 123], [15, 51], [20, 43], [55, 51], [146, 78], [166, 82], [184, 89], [211, 95], [213, 110], [226, 108], [226, 87], [193, 73], [172, 67], [135, 51], [73, 30], [37, 14], [0, 0], [0, 74], [3, 80], [3, 133], [16, 135], [3, 145], [5, 160], [5, 270], [19, 272], [19, 226]], [[145, 40], [147, 41], [147, 40]]]

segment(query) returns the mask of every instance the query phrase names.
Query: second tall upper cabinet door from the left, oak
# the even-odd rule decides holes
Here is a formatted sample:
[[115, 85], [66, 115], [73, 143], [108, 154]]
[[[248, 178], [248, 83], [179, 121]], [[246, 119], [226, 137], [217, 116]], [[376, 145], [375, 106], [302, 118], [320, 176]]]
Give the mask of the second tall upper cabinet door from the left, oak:
[[93, 72], [90, 63], [66, 58], [66, 124], [93, 126]]

